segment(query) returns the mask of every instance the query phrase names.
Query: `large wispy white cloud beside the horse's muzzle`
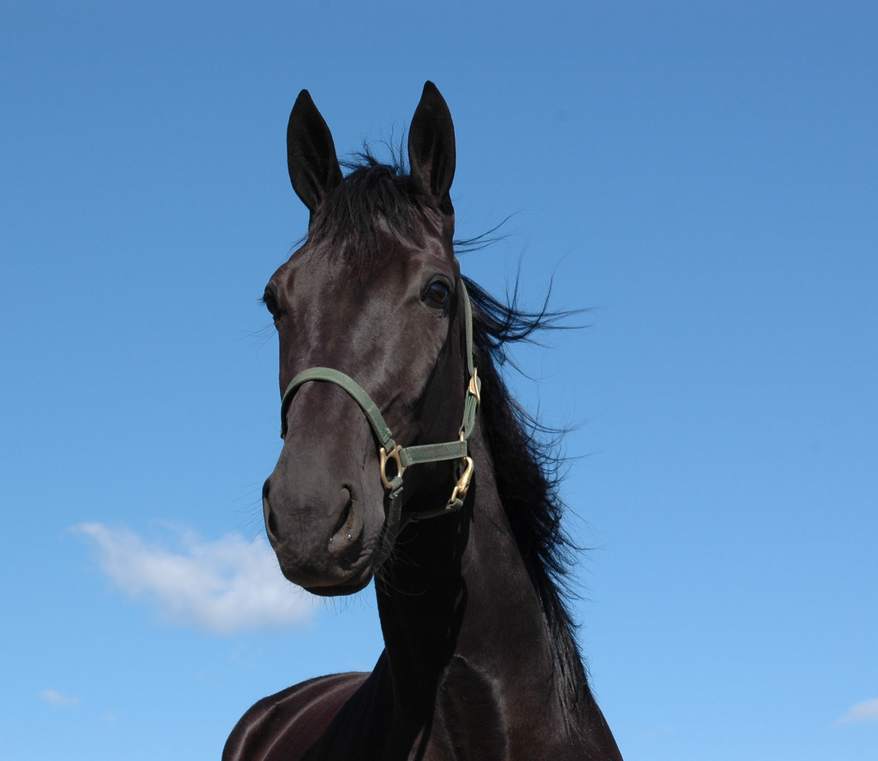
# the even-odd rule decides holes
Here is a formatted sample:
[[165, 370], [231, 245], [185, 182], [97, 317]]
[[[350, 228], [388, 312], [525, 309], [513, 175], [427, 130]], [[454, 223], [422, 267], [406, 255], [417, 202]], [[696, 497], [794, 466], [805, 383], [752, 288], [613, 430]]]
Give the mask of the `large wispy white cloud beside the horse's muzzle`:
[[210, 542], [185, 532], [182, 551], [173, 552], [125, 528], [82, 523], [75, 530], [95, 542], [98, 562], [115, 585], [152, 599], [171, 621], [233, 634], [289, 626], [313, 611], [313, 597], [281, 575], [261, 537], [248, 542], [232, 534]]

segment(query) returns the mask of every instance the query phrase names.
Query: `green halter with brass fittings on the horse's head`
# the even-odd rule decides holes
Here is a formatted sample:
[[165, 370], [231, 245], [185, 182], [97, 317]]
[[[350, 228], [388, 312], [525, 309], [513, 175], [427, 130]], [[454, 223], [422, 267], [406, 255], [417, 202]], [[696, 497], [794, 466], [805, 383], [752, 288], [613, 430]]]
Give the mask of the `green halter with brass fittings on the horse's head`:
[[[482, 382], [479, 373], [472, 363], [472, 305], [470, 296], [466, 292], [464, 281], [460, 281], [460, 288], [464, 296], [464, 322], [466, 326], [466, 367], [469, 372], [469, 383], [466, 386], [466, 400], [464, 401], [464, 421], [460, 425], [460, 438], [457, 442], [443, 442], [439, 444], [419, 444], [414, 447], [401, 447], [393, 441], [390, 428], [387, 427], [381, 416], [378, 406], [371, 400], [369, 394], [363, 391], [363, 387], [356, 381], [345, 375], [341, 370], [333, 370], [329, 367], [313, 367], [302, 370], [294, 377], [284, 391], [284, 398], [280, 405], [280, 437], [286, 437], [286, 411], [290, 406], [293, 394], [300, 385], [308, 381], [327, 381], [341, 386], [351, 398], [360, 406], [365, 414], [372, 430], [378, 437], [378, 457], [381, 470], [381, 483], [388, 492], [390, 506], [385, 520], [385, 531], [382, 538], [381, 551], [378, 553], [378, 565], [385, 562], [393, 549], [393, 542], [399, 532], [406, 528], [413, 520], [426, 520], [439, 515], [453, 513], [464, 506], [466, 492], [470, 488], [472, 473], [475, 467], [472, 457], [469, 456], [469, 442], [472, 432], [476, 427], [476, 411], [481, 403]], [[461, 461], [463, 473], [457, 479], [457, 485], [451, 491], [450, 499], [444, 507], [437, 510], [428, 510], [422, 513], [406, 513], [402, 515], [402, 476], [410, 465], [421, 463], [438, 463], [443, 460]], [[387, 476], [387, 463], [391, 461], [396, 466], [396, 473], [392, 477]]]

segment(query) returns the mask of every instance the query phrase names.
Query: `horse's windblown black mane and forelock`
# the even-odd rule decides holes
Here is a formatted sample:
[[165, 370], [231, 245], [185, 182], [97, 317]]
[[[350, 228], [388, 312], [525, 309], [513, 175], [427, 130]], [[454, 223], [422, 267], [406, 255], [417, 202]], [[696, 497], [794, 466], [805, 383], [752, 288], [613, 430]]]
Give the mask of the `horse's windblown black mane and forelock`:
[[[368, 146], [342, 162], [350, 172], [327, 196], [308, 231], [309, 238], [331, 241], [335, 251], [353, 257], [352, 263], [361, 272], [379, 266], [384, 256], [378, 219], [384, 218], [394, 233], [415, 243], [422, 241], [425, 198], [414, 190], [401, 145], [389, 147], [391, 163], [378, 161]], [[454, 241], [456, 252], [485, 248], [497, 240], [493, 236], [496, 230]], [[578, 548], [562, 525], [565, 504], [558, 486], [563, 461], [556, 444], [563, 431], [543, 426], [520, 406], [501, 373], [503, 365], [511, 364], [511, 344], [532, 341], [539, 331], [563, 327], [558, 320], [570, 312], [550, 312], [547, 302], [537, 312], [520, 309], [517, 283], [504, 303], [469, 278], [464, 277], [464, 281], [473, 307], [475, 360], [486, 388], [481, 410], [500, 503], [543, 607], [554, 644], [559, 697], [565, 714], [572, 717], [583, 708], [587, 710], [584, 699], [589, 692], [568, 607], [573, 596], [569, 574]]]

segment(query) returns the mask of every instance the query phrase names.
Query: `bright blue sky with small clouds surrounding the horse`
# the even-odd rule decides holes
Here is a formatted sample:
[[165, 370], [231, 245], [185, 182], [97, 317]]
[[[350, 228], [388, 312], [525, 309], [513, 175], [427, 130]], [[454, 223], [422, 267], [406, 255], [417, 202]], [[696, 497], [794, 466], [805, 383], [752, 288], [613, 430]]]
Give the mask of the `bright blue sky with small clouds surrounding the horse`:
[[340, 153], [424, 80], [458, 233], [585, 330], [518, 354], [579, 427], [576, 615], [626, 758], [878, 755], [878, 10], [838, 3], [0, 6], [0, 736], [208, 759], [254, 700], [368, 669], [371, 590], [284, 584], [257, 304]]

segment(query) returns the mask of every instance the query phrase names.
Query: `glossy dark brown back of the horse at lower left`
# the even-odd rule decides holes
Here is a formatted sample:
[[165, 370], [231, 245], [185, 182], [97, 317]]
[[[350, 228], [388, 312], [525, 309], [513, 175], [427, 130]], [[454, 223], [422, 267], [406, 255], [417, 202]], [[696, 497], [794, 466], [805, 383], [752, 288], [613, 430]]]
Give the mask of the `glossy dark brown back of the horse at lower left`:
[[222, 761], [299, 761], [368, 676], [330, 674], [259, 700], [228, 736]]

